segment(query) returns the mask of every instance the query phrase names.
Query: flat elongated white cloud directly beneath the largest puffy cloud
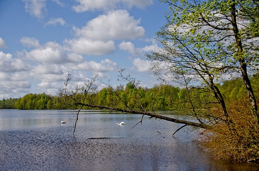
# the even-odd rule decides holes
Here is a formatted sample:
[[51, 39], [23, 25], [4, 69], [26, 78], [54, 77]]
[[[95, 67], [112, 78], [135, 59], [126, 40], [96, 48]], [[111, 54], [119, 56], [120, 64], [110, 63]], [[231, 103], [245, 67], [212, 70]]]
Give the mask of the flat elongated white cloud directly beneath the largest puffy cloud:
[[110, 40], [103, 42], [100, 40], [90, 40], [85, 38], [67, 39], [64, 41], [65, 49], [74, 53], [87, 55], [105, 55], [115, 51], [115, 43]]

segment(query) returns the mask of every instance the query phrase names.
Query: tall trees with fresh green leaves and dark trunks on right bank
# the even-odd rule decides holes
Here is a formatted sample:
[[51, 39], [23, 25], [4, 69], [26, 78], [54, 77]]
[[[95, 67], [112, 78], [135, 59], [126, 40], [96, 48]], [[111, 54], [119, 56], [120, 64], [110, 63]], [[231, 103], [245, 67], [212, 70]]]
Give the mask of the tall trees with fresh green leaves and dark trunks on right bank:
[[213, 92], [225, 117], [225, 101], [215, 82], [226, 74], [241, 73], [250, 108], [259, 118], [248, 75], [249, 69], [258, 66], [259, 40], [255, 38], [259, 35], [259, 1], [160, 1], [169, 4], [170, 13], [168, 22], [157, 32], [163, 49], [147, 55], [154, 62], [155, 73], [202, 81]]

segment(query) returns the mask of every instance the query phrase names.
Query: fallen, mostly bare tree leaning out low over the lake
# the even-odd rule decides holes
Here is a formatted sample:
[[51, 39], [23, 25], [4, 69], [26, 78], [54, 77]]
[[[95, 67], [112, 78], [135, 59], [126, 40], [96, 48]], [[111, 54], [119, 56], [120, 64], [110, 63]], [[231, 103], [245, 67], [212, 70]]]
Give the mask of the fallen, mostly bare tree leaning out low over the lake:
[[[142, 88], [139, 86], [139, 82], [135, 81], [135, 79], [129, 78], [128, 76], [124, 77], [122, 75], [122, 72], [123, 72], [123, 70], [120, 71], [121, 77], [123, 78], [123, 80], [130, 82], [129, 85], [131, 87], [128, 89], [126, 88], [125, 91], [126, 92], [128, 91], [129, 94], [131, 96], [133, 96], [133, 98], [129, 98], [130, 95], [128, 96], [128, 103], [126, 103], [122, 99], [122, 97], [119, 96], [119, 94], [115, 91], [115, 89], [111, 85], [107, 85], [107, 84], [106, 85], [108, 86], [109, 89], [112, 89], [113, 92], [116, 94], [116, 101], [118, 99], [120, 99], [121, 102], [124, 103], [124, 105], [127, 108], [118, 107], [120, 105], [118, 105], [117, 102], [113, 103], [112, 106], [98, 105], [98, 100], [96, 100], [96, 98], [98, 97], [98, 95], [97, 95], [98, 87], [97, 87], [97, 85], [94, 84], [97, 78], [89, 80], [83, 86], [80, 86], [80, 87], [76, 86], [75, 90], [68, 89], [69, 81], [71, 80], [71, 74], [68, 74], [68, 78], [67, 78], [66, 82], [64, 83], [64, 88], [59, 89], [59, 96], [60, 96], [61, 100], [63, 101], [63, 105], [67, 106], [67, 108], [70, 108], [71, 106], [79, 107], [78, 113], [76, 115], [76, 121], [74, 124], [74, 133], [75, 133], [79, 113], [80, 113], [81, 109], [83, 109], [83, 107], [111, 109], [111, 110], [117, 110], [117, 111], [122, 111], [122, 112], [127, 112], [127, 113], [138, 113], [138, 114], [148, 115], [150, 117], [168, 120], [168, 121], [175, 122], [175, 123], [185, 124], [185, 126], [191, 125], [191, 126], [200, 127], [200, 128], [209, 128], [210, 127], [210, 125], [207, 125], [204, 123], [196, 123], [196, 122], [192, 122], [192, 121], [188, 121], [188, 120], [175, 119], [175, 118], [156, 114], [153, 111], [155, 108], [152, 108], [152, 112], [147, 111], [144, 108], [144, 105], [141, 101], [141, 95], [143, 95], [145, 93], [142, 93], [143, 91], [142, 91]], [[102, 82], [101, 80], [99, 80], [99, 81]], [[133, 85], [133, 86], [131, 86], [131, 85]], [[128, 104], [130, 104], [130, 105], [132, 104], [131, 102], [129, 102], [129, 100], [133, 101], [132, 103], [135, 104], [135, 108], [137, 108], [138, 110], [134, 110], [134, 108], [131, 108], [131, 106], [128, 105]], [[132, 106], [132, 107], [134, 107], [134, 106]], [[139, 123], [141, 123], [141, 122], [142, 122], [142, 119]]]

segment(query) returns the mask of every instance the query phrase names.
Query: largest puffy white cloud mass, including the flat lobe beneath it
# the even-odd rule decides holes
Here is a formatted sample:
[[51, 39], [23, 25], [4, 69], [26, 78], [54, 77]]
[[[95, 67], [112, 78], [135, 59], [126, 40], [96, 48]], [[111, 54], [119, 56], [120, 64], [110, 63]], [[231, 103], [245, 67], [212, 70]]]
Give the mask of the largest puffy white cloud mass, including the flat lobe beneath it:
[[64, 49], [87, 55], [106, 55], [116, 50], [114, 39], [143, 37], [145, 30], [137, 26], [127, 10], [111, 10], [87, 22], [81, 29], [73, 27], [76, 38], [64, 40]]

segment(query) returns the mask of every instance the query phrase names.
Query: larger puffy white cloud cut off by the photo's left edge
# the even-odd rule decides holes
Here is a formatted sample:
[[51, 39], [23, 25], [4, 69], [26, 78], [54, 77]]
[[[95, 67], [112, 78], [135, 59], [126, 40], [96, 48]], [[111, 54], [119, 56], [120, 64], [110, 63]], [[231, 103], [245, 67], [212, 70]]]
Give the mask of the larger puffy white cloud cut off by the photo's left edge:
[[20, 59], [12, 58], [11, 54], [5, 54], [0, 51], [0, 72], [13, 73], [18, 71], [27, 71], [30, 66]]

